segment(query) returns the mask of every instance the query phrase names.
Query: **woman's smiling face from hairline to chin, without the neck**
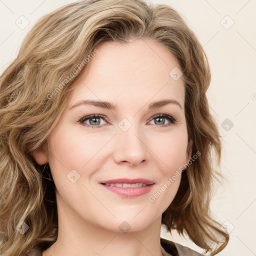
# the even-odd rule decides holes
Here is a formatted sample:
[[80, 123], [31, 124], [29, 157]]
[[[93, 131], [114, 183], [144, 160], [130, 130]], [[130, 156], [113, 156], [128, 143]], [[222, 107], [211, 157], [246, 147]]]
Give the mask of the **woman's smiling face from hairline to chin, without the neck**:
[[[45, 151], [33, 155], [49, 163], [60, 212], [112, 231], [122, 225], [142, 230], [159, 221], [177, 192], [181, 165], [191, 156], [180, 67], [151, 40], [105, 42], [97, 49]], [[100, 116], [85, 118], [93, 114]], [[129, 181], [134, 187], [127, 187]]]

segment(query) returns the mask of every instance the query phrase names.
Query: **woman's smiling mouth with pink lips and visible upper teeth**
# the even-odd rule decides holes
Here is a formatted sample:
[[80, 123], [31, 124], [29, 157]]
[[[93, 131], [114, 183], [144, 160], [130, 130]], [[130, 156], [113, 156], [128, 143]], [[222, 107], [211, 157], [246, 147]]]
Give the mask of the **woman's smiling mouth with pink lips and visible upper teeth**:
[[142, 194], [148, 193], [152, 186], [155, 184], [153, 181], [136, 178], [136, 179], [111, 179], [99, 182], [107, 190], [114, 192], [122, 197], [137, 197]]

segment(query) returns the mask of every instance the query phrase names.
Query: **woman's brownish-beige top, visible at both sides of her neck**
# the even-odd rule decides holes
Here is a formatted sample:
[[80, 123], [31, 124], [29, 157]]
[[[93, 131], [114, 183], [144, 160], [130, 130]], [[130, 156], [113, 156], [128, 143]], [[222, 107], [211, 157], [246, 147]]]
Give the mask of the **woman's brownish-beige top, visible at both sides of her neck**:
[[[199, 252], [192, 250], [180, 243], [173, 242], [164, 238], [160, 238], [161, 251], [164, 256], [202, 256]], [[46, 248], [37, 246], [31, 252], [26, 253], [25, 256], [42, 256], [42, 251]]]

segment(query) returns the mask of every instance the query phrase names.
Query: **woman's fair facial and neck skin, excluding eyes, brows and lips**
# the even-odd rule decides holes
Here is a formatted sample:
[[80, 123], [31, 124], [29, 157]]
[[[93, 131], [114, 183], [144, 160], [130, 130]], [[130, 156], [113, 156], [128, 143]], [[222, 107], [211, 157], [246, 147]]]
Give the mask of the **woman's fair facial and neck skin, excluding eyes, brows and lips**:
[[[180, 176], [153, 202], [149, 196], [191, 156], [184, 83], [182, 76], [174, 80], [169, 75], [179, 65], [162, 44], [148, 39], [122, 45], [105, 42], [97, 49], [47, 143], [32, 153], [37, 163], [49, 163], [57, 188], [58, 238], [42, 255], [163, 255], [161, 214], [173, 200]], [[108, 101], [118, 110], [89, 104], [69, 109], [84, 99]], [[148, 109], [148, 104], [162, 99], [175, 99], [181, 107], [170, 103]], [[161, 113], [177, 122], [150, 119]], [[79, 123], [90, 114], [108, 119], [100, 118], [95, 128]], [[126, 131], [118, 126], [123, 118], [131, 123]], [[163, 127], [163, 121], [171, 125]], [[67, 178], [72, 169], [80, 175], [74, 183]], [[146, 194], [125, 198], [98, 183], [121, 177], [147, 178], [155, 185]], [[123, 221], [130, 228], [126, 233], [119, 228], [121, 223], [128, 226]]]

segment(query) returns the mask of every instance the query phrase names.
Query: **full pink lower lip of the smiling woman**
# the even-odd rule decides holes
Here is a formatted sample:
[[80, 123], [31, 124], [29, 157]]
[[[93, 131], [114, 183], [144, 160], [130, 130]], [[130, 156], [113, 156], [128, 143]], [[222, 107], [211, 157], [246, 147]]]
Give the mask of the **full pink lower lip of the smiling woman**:
[[132, 198], [132, 197], [137, 197], [142, 194], [148, 193], [152, 189], [154, 184], [141, 186], [141, 187], [119, 187], [119, 186], [107, 186], [103, 184], [100, 184], [100, 185], [104, 186], [107, 190], [114, 192], [118, 195]]

